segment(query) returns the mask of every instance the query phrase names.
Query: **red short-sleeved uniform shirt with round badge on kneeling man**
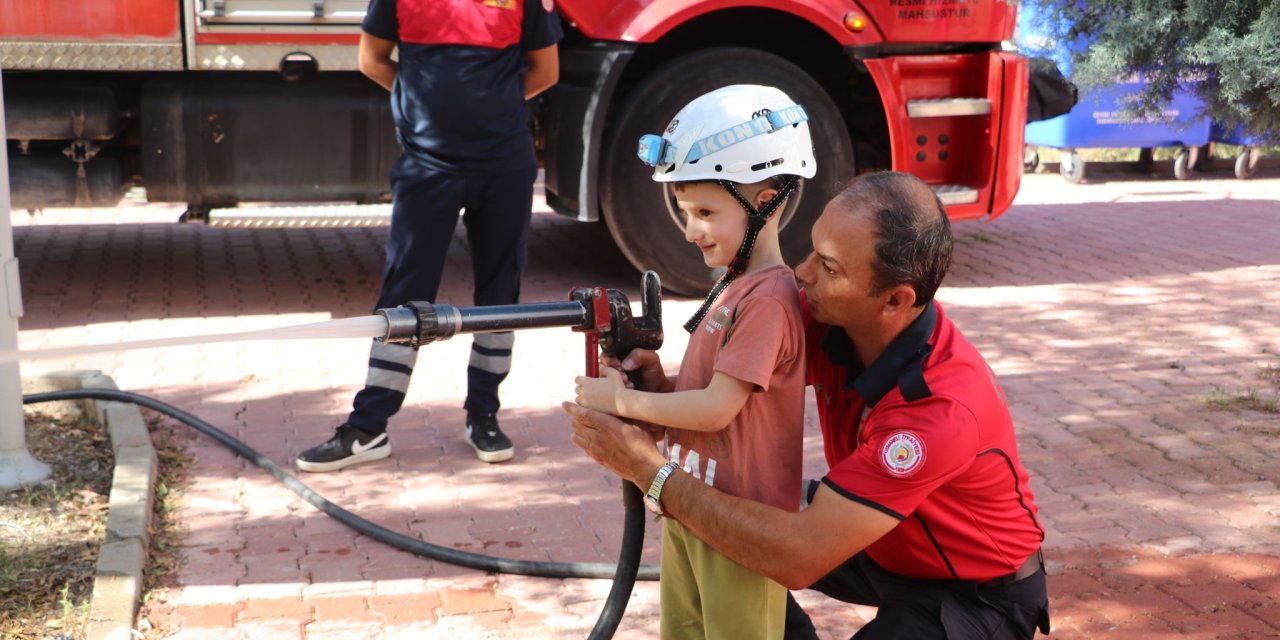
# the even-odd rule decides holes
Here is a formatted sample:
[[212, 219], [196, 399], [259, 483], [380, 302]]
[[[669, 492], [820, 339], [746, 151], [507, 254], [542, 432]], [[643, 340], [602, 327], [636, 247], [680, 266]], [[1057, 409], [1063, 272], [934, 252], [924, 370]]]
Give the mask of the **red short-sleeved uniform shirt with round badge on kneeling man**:
[[844, 329], [806, 312], [805, 335], [823, 484], [901, 520], [868, 556], [920, 579], [1016, 571], [1044, 531], [1004, 392], [942, 307], [929, 303], [865, 369]]

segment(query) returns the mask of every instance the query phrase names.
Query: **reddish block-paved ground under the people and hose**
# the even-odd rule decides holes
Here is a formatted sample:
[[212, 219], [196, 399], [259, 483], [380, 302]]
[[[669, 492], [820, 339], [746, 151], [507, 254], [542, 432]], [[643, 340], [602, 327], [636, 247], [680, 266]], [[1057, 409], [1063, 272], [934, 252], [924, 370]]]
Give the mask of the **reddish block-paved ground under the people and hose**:
[[[995, 367], [1047, 527], [1055, 637], [1280, 636], [1280, 175], [1238, 182], [1028, 175], [992, 224], [956, 227], [941, 301]], [[525, 301], [639, 275], [608, 233], [535, 215]], [[12, 215], [24, 349], [367, 314], [385, 229], [172, 224], [178, 210]], [[440, 300], [470, 305], [462, 236]], [[668, 364], [698, 301], [664, 300]], [[568, 443], [557, 408], [581, 337], [521, 333], [502, 465], [462, 440], [468, 339], [424, 349], [387, 461], [305, 477], [397, 531], [527, 559], [612, 561], [620, 484]], [[23, 365], [99, 369], [285, 466], [328, 438], [364, 379], [365, 339], [218, 343]], [[812, 403], [812, 397], [810, 397]], [[178, 428], [174, 428], [178, 429]], [[494, 576], [389, 549], [205, 436], [186, 492], [180, 586], [151, 605], [180, 639], [584, 637], [603, 580]], [[820, 475], [812, 406], [806, 468]], [[657, 559], [649, 527], [645, 561]], [[799, 595], [823, 637], [873, 611]], [[657, 637], [655, 584], [618, 637]]]

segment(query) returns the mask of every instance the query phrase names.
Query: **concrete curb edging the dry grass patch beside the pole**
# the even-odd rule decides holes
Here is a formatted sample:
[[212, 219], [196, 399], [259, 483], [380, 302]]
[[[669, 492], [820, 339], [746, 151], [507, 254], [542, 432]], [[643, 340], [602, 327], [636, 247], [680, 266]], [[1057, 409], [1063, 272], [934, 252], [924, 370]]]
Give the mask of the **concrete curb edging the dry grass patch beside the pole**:
[[[118, 389], [101, 371], [56, 371], [24, 380], [24, 393], [67, 389]], [[88, 640], [131, 640], [142, 598], [142, 570], [150, 544], [157, 458], [136, 404], [84, 399], [78, 404], [105, 425], [115, 454], [106, 538], [97, 553], [90, 604]]]

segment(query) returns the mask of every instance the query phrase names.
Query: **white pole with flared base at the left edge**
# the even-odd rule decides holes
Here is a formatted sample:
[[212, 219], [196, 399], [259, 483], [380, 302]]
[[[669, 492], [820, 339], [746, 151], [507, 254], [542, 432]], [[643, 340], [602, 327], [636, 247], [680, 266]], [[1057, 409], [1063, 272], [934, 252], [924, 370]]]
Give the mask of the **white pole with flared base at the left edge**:
[[[9, 150], [4, 129], [4, 72], [0, 70], [0, 351], [17, 351], [22, 289], [18, 256], [13, 252], [9, 224]], [[22, 376], [18, 362], [0, 364], [0, 489], [38, 483], [51, 474], [49, 465], [27, 451], [22, 417]]]

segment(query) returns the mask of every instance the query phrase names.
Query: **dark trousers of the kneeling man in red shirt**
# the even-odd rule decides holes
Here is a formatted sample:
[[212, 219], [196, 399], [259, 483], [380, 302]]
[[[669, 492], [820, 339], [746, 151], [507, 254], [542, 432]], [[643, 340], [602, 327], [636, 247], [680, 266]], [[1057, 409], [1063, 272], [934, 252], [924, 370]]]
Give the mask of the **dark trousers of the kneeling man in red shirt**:
[[[854, 604], [877, 607], [876, 620], [856, 640], [1029, 640], [1037, 626], [1048, 632], [1044, 571], [1018, 582], [919, 580], [854, 556], [809, 589]], [[809, 616], [787, 594], [786, 640], [817, 640]]]

